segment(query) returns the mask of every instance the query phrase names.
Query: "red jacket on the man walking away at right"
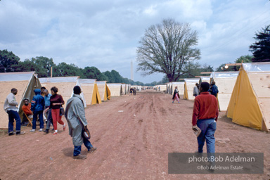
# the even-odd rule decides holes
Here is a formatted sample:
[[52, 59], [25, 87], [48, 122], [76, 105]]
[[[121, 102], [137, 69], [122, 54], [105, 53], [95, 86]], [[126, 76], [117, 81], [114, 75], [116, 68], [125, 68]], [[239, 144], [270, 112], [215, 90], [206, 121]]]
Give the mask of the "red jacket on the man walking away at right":
[[197, 120], [215, 119], [219, 117], [219, 107], [217, 98], [209, 92], [202, 92], [195, 97], [193, 106], [192, 125], [197, 124]]

